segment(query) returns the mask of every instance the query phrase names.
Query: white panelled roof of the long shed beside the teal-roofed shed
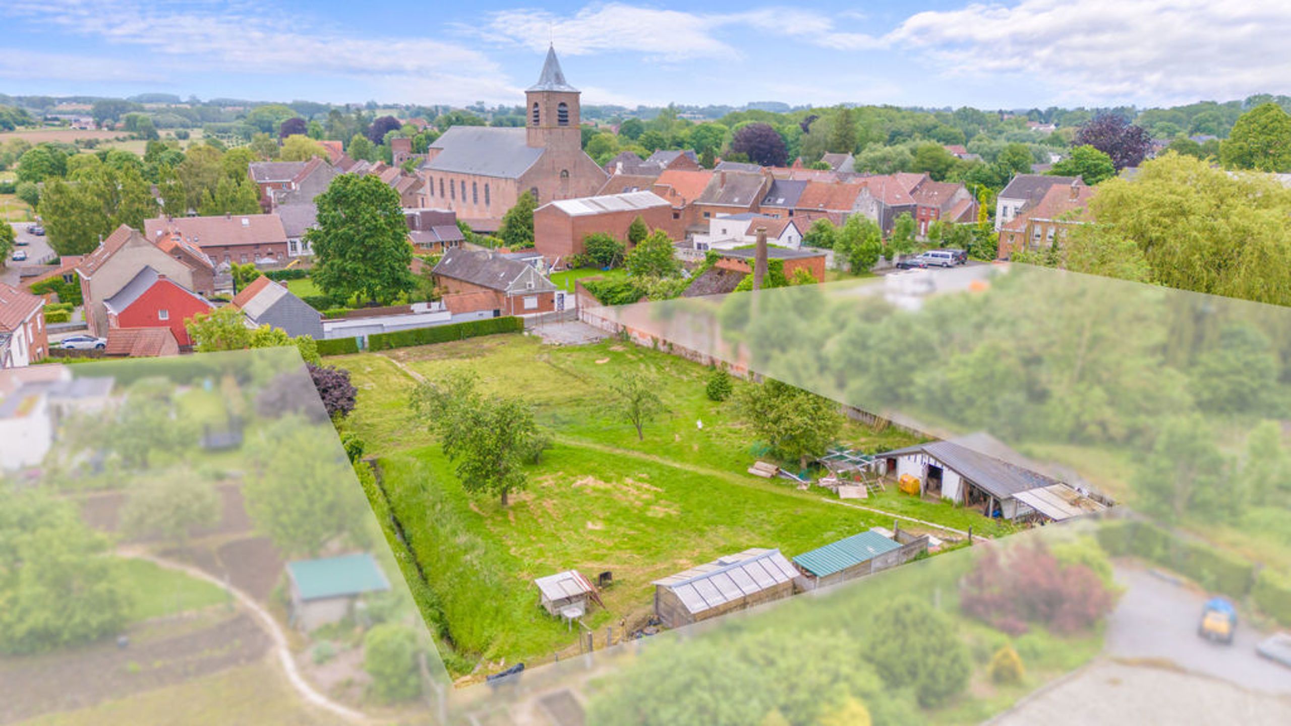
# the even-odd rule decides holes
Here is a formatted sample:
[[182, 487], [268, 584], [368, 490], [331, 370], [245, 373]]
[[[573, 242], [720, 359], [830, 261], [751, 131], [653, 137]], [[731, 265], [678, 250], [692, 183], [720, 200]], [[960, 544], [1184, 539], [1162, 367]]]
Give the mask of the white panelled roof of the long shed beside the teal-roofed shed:
[[778, 549], [751, 548], [652, 584], [676, 593], [695, 614], [788, 583], [795, 574]]

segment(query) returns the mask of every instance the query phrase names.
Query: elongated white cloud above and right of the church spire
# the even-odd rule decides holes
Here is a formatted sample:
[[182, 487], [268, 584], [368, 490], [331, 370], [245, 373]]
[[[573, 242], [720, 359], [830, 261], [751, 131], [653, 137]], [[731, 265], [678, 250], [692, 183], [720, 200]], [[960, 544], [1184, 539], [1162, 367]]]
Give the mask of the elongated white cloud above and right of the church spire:
[[[747, 41], [723, 40], [718, 31], [728, 35], [742, 31]], [[538, 9], [498, 10], [475, 32], [534, 50], [554, 41], [560, 53], [569, 56], [626, 50], [664, 61], [742, 57], [741, 48], [767, 48], [775, 37], [834, 49], [873, 48], [878, 43], [870, 35], [839, 30], [830, 16], [778, 6], [726, 14], [622, 3], [587, 5], [572, 16]]]

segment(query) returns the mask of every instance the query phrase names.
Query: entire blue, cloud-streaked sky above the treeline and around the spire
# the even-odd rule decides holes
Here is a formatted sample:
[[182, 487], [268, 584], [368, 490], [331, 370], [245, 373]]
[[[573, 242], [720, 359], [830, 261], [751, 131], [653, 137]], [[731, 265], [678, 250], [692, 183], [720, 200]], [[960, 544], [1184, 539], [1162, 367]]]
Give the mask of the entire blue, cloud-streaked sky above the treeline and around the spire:
[[1291, 93], [1286, 0], [0, 0], [0, 92], [982, 109]]

